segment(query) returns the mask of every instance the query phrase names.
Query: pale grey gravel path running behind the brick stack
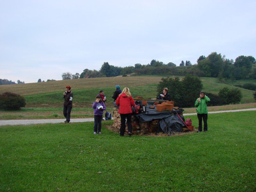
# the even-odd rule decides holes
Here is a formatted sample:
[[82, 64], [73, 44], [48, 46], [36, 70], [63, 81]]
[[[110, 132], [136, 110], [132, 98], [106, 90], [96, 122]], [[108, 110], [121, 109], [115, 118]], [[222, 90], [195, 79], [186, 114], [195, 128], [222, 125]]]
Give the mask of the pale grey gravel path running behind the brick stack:
[[[237, 110], [228, 110], [228, 111], [211, 111], [208, 114], [212, 113], [227, 113], [227, 112], [238, 112], [238, 111], [255, 111], [256, 108], [251, 109], [237, 109]], [[184, 116], [196, 115], [196, 113], [185, 113]], [[72, 117], [72, 116], [71, 116]], [[103, 118], [105, 119], [105, 118]], [[0, 120], [0, 126], [3, 125], [29, 125], [29, 124], [45, 124], [45, 123], [63, 123], [66, 119], [19, 119], [19, 120]], [[72, 119], [72, 123], [81, 123], [81, 122], [93, 122], [94, 118], [86, 119]]]

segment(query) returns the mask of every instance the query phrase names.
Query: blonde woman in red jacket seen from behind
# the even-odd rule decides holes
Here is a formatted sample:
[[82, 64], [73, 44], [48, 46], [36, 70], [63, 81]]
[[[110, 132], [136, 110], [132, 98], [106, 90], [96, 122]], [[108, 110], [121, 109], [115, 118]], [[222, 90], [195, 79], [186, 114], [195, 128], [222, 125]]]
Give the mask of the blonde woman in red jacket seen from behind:
[[128, 134], [132, 135], [132, 107], [135, 107], [135, 102], [132, 98], [128, 87], [124, 87], [122, 93], [116, 99], [116, 105], [119, 105], [121, 116], [120, 136], [124, 136], [125, 118], [127, 119]]

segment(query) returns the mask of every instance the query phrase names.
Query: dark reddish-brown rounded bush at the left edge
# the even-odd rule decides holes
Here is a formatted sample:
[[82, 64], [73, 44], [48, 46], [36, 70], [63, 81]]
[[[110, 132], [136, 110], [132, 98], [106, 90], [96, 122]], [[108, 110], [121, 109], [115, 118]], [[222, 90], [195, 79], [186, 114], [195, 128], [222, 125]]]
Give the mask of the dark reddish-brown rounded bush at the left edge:
[[23, 96], [12, 92], [0, 94], [0, 107], [2, 109], [20, 109], [25, 107], [26, 102]]

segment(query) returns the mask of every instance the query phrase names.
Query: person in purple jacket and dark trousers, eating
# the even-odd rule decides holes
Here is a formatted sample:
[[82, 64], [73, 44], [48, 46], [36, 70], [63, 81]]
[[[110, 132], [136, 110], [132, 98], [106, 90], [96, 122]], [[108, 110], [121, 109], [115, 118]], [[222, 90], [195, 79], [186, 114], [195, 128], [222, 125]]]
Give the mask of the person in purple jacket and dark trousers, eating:
[[93, 102], [92, 108], [94, 108], [93, 134], [96, 135], [97, 130], [98, 130], [98, 133], [101, 134], [101, 120], [103, 116], [103, 111], [106, 110], [106, 106], [99, 95], [96, 96], [96, 100]]

